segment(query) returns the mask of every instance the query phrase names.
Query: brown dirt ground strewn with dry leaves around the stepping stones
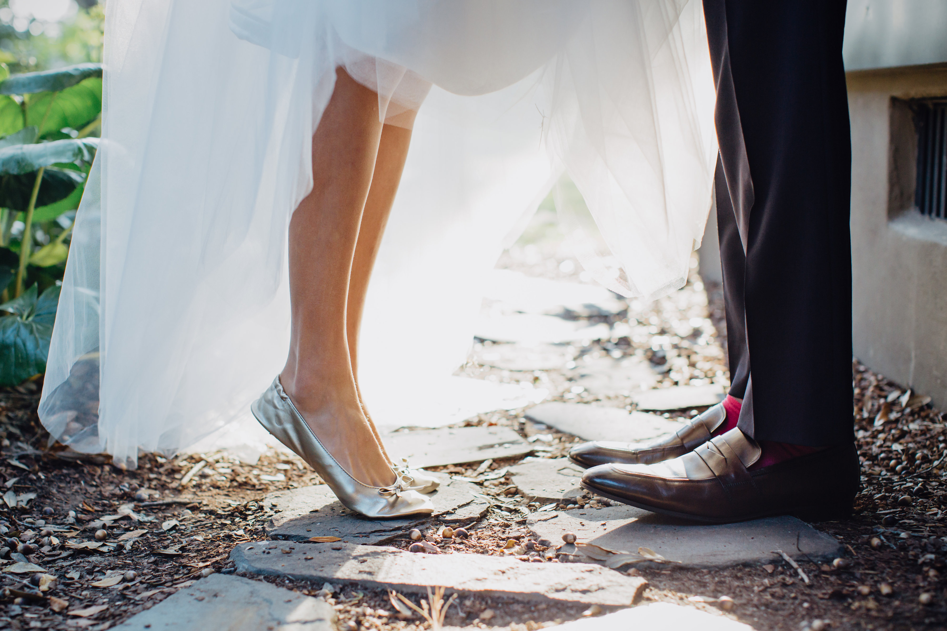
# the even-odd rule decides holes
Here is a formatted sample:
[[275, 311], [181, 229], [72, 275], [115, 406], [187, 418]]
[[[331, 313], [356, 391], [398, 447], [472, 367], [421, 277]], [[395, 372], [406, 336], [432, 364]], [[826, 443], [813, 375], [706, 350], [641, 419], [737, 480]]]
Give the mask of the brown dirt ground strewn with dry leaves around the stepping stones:
[[[527, 260], [521, 255], [513, 263], [526, 267]], [[543, 269], [531, 272], [576, 279], [575, 266], [563, 265], [562, 256], [555, 260], [536, 263]], [[577, 361], [636, 354], [658, 368], [668, 364], [660, 385], [691, 379], [725, 383], [720, 294], [713, 288], [708, 294], [709, 304], [700, 298], [704, 288], [694, 276], [688, 288], [639, 308], [627, 337], [591, 342], [579, 349]], [[627, 314], [619, 317], [628, 320]], [[670, 350], [654, 351], [655, 335], [666, 336]], [[524, 378], [474, 363], [461, 373], [503, 381]], [[538, 373], [527, 377], [542, 381], [551, 400], [631, 405], [630, 399], [599, 399], [573, 387], [567, 371]], [[912, 393], [857, 361], [852, 364], [852, 380], [863, 489], [849, 520], [814, 524], [836, 536], [847, 555], [831, 565], [801, 562], [808, 582], [782, 562], [727, 570], [636, 567], [630, 571], [645, 576], [650, 584], [643, 602], [694, 606], [757, 629], [947, 628], [944, 414], [932, 409], [922, 393]], [[141, 458], [137, 470], [123, 471], [107, 458], [80, 457], [61, 446], [47, 448], [48, 436], [36, 416], [40, 387], [36, 380], [0, 391], [0, 483], [5, 487], [0, 492], [6, 494], [0, 502], [0, 628], [107, 629], [201, 576], [231, 573], [227, 555], [234, 544], [261, 538], [263, 524], [273, 515], [263, 497], [318, 482], [299, 459], [276, 451], [253, 465], [241, 464], [226, 453], [172, 459], [152, 454]], [[682, 410], [670, 416], [693, 413]], [[578, 441], [537, 427], [523, 411], [482, 414], [465, 424], [509, 426], [526, 437], [542, 433], [546, 439], [534, 443], [536, 453], [549, 457], [564, 455]], [[486, 471], [498, 472], [514, 462], [497, 461]], [[478, 465], [441, 469], [474, 477]], [[484, 493], [508, 504], [527, 502], [509, 476], [482, 486]], [[591, 496], [580, 501], [590, 508], [610, 505], [609, 500]], [[468, 529], [466, 540], [438, 537], [435, 528], [426, 535], [441, 553], [509, 554], [509, 540], [516, 544], [530, 540], [524, 523], [523, 511], [496, 506]], [[405, 533], [395, 545], [406, 548], [410, 543]], [[525, 546], [531, 551], [513, 552], [529, 562], [530, 552], [545, 557], [545, 543], [550, 542], [534, 542]], [[10, 571], [14, 569], [26, 571]], [[50, 582], [50, 576], [55, 580]], [[326, 587], [272, 577], [263, 580], [313, 595]], [[338, 611], [340, 629], [427, 628], [420, 617], [399, 613], [382, 591], [332, 587], [331, 595], [319, 593]], [[724, 612], [714, 603], [721, 596], [732, 599], [732, 609]], [[446, 622], [531, 631], [599, 613], [581, 606], [525, 605], [463, 595], [451, 605]]]

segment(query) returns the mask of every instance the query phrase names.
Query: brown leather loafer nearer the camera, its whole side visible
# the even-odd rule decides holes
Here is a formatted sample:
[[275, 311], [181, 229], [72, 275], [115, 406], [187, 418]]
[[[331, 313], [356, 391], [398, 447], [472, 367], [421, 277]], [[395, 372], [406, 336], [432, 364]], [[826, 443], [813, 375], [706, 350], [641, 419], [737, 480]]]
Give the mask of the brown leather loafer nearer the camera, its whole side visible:
[[609, 500], [708, 523], [795, 515], [807, 521], [848, 517], [860, 486], [854, 444], [828, 447], [767, 466], [738, 428], [658, 464], [601, 464], [581, 485]]

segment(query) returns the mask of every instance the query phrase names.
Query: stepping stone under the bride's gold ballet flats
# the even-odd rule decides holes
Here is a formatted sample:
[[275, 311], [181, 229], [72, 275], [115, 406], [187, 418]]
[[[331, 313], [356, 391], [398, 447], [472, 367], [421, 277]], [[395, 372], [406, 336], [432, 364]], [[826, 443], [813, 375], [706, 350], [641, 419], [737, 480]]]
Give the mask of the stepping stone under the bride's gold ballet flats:
[[431, 475], [440, 479], [438, 490], [428, 496], [434, 502], [435, 512], [431, 516], [369, 519], [343, 506], [329, 485], [318, 484], [267, 495], [264, 506], [273, 507], [277, 514], [266, 522], [264, 532], [272, 539], [305, 541], [311, 536], [338, 536], [376, 545], [387, 543], [432, 518], [444, 523], [469, 524], [490, 509], [489, 503], [472, 495], [481, 492], [476, 484], [451, 480], [443, 473]]

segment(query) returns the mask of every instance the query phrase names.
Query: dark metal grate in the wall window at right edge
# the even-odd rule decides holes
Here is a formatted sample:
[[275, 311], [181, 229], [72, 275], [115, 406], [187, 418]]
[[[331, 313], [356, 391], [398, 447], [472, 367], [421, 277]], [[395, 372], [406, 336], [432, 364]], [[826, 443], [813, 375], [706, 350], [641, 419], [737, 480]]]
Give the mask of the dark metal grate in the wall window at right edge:
[[947, 101], [914, 102], [918, 129], [915, 202], [928, 217], [947, 219]]

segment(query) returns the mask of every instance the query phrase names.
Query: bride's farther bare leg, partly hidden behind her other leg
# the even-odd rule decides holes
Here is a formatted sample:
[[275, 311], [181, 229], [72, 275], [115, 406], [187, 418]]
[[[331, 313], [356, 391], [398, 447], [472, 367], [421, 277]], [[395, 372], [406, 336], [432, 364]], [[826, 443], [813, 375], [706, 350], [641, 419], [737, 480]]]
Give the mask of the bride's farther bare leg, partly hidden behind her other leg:
[[[414, 113], [402, 115], [404, 123], [409, 127], [414, 119]], [[410, 117], [410, 119], [408, 119]], [[395, 202], [395, 193], [402, 179], [404, 161], [407, 158], [408, 146], [411, 143], [411, 130], [395, 125], [384, 125], [382, 138], [378, 146], [378, 158], [375, 160], [375, 171], [368, 189], [368, 198], [365, 203], [365, 212], [362, 214], [362, 224], [359, 227], [358, 241], [355, 245], [355, 256], [352, 259], [352, 272], [348, 284], [348, 308], [346, 310], [348, 335], [348, 355], [351, 361], [352, 374], [355, 375], [355, 388], [358, 391], [358, 336], [362, 326], [362, 313], [365, 308], [365, 297], [368, 290], [368, 280], [375, 265], [379, 246], [382, 244], [384, 226], [391, 213], [391, 206]], [[364, 406], [364, 403], [363, 403]], [[367, 415], [367, 412], [366, 412]], [[375, 424], [369, 417], [368, 425], [372, 429], [379, 445], [384, 445], [382, 438], [375, 429]], [[385, 454], [387, 456], [387, 454]]]

